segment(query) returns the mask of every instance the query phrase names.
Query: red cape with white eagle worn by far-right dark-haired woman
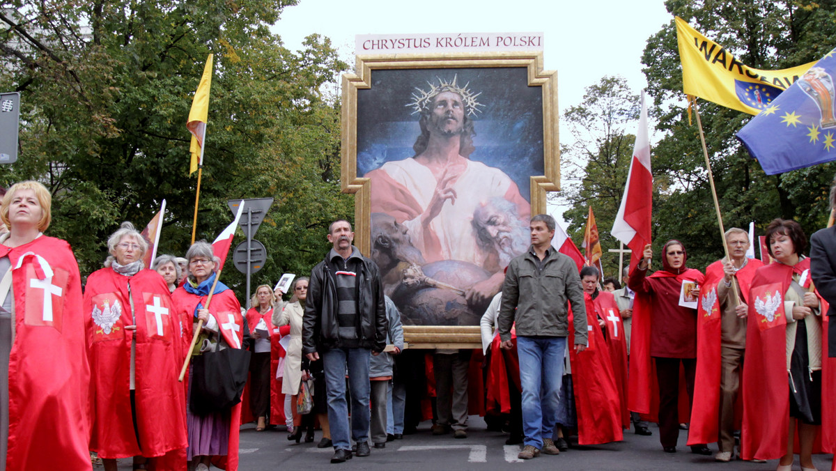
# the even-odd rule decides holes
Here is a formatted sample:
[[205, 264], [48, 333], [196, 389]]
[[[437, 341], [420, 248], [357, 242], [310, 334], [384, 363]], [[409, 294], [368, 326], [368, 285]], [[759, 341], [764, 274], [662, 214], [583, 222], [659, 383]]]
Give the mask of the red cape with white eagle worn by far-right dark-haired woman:
[[[789, 430], [789, 381], [787, 373], [787, 320], [784, 317], [783, 302], [778, 303], [772, 313], [759, 314], [755, 308], [756, 298], [767, 302], [770, 295], [778, 293], [783, 301], [789, 289], [793, 268], [809, 269], [810, 259], [803, 259], [795, 267], [780, 263], [762, 266], [755, 272], [749, 291], [749, 320], [746, 332], [746, 367], [743, 368], [743, 423], [741, 433], [741, 456], [743, 459], [775, 459], [787, 452]], [[808, 277], [809, 279], [809, 277]], [[819, 297], [822, 312], [827, 312], [827, 303]], [[767, 302], [768, 305], [768, 302]], [[768, 314], [768, 313], [767, 313]], [[836, 361], [828, 358], [827, 316], [823, 316], [822, 338], [822, 427], [823, 433], [814, 447], [826, 453], [836, 451], [836, 413], [833, 394], [836, 394]], [[796, 448], [798, 449], [798, 448]]]

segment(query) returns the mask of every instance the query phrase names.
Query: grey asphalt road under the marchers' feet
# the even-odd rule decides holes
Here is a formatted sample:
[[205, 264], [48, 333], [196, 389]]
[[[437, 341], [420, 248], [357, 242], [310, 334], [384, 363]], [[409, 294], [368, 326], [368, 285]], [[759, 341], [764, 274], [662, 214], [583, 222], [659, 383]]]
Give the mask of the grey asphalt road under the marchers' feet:
[[[773, 471], [777, 460], [767, 463], [732, 461], [716, 463], [711, 456], [691, 454], [685, 446], [686, 432], [680, 433], [677, 453], [664, 453], [659, 444], [658, 429], [651, 425], [652, 437], [640, 437], [632, 432], [624, 433], [624, 441], [595, 447], [573, 447], [558, 456], [541, 455], [539, 458], [523, 461], [517, 459], [519, 447], [506, 445], [506, 435], [487, 432], [481, 417], [468, 419], [468, 437], [454, 439], [451, 434], [440, 437], [430, 433], [430, 422], [422, 422], [418, 433], [405, 435], [403, 440], [386, 443], [385, 449], [372, 448], [371, 456], [354, 457], [345, 463], [331, 464], [332, 448], [316, 448], [322, 437], [317, 431], [314, 443], [288, 442], [283, 427], [256, 432], [252, 424], [241, 430], [242, 471], [293, 469], [310, 471], [317, 469], [393, 469], [397, 471], [448, 469], [507, 470], [528, 469], [569, 469], [572, 471], [633, 471], [633, 470], [688, 470], [709, 469], [717, 471]], [[716, 444], [709, 445], [716, 451]], [[830, 455], [817, 455], [813, 462], [819, 471], [829, 471]], [[100, 468], [99, 468], [100, 469]], [[130, 460], [120, 460], [120, 470], [130, 469]], [[212, 468], [214, 469], [214, 468]], [[800, 470], [798, 457], [793, 468]]]

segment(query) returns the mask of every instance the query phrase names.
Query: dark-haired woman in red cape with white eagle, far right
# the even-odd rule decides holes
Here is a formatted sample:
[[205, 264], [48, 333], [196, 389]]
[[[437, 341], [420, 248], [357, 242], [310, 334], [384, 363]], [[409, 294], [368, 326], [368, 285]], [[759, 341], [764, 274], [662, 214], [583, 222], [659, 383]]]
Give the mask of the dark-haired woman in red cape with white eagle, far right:
[[[808, 471], [815, 469], [811, 455], [819, 429], [836, 427], [832, 413], [822, 412], [822, 397], [836, 392], [832, 371], [823, 371], [829, 366], [821, 316], [826, 306], [802, 255], [807, 239], [801, 226], [776, 219], [766, 238], [776, 262], [757, 269], [749, 291], [741, 454], [781, 458], [778, 471], [789, 471], [798, 431], [801, 466]], [[833, 453], [834, 443], [821, 448]]]

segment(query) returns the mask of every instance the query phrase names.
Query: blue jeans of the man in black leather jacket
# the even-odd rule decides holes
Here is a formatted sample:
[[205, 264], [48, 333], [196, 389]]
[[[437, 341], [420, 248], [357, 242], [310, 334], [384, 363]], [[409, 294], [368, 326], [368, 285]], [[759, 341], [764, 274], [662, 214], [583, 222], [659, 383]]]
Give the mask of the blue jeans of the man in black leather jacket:
[[366, 442], [369, 439], [371, 351], [364, 348], [333, 348], [320, 352], [320, 355], [325, 371], [331, 441], [334, 442], [334, 450], [350, 450], [349, 405], [345, 401], [345, 367], [348, 366], [351, 390], [351, 438], [357, 443]]

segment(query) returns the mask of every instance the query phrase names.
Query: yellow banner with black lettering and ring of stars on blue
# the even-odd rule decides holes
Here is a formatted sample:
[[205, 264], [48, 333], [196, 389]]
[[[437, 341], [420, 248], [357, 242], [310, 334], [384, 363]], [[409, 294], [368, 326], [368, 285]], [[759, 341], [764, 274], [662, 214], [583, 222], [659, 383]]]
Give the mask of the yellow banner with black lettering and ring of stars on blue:
[[757, 115], [814, 62], [792, 69], [752, 69], [676, 17], [676, 38], [682, 61], [682, 89], [732, 110]]

